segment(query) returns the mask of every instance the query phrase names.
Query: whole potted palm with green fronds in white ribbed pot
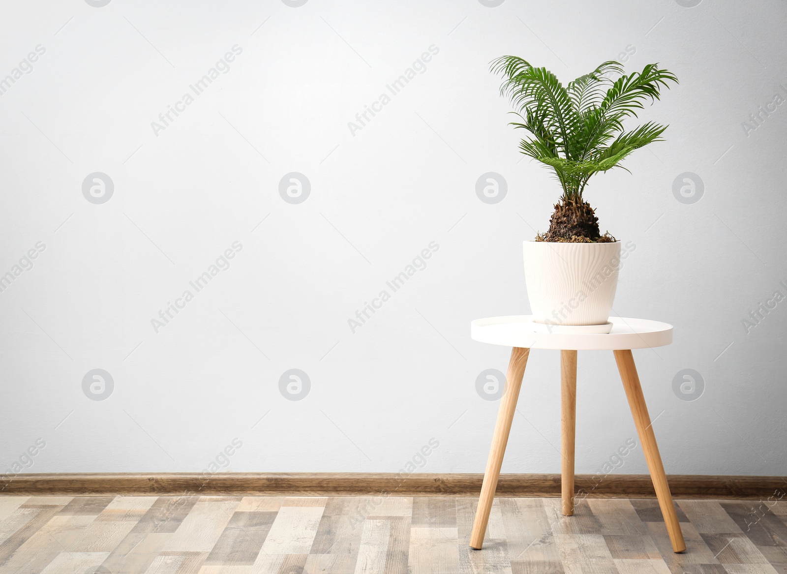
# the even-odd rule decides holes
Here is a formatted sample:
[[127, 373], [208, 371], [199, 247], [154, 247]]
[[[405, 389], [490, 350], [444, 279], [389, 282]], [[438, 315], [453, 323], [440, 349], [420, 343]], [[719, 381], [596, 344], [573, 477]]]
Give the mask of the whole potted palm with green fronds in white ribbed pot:
[[605, 61], [563, 87], [549, 70], [516, 56], [497, 58], [492, 72], [504, 77], [501, 95], [521, 120], [511, 125], [530, 132], [520, 150], [552, 170], [563, 188], [549, 229], [523, 242], [534, 323], [549, 331], [609, 332], [620, 242], [600, 233], [583, 193], [591, 176], [661, 141], [667, 126], [648, 121], [626, 130], [623, 120], [637, 117], [678, 79], [658, 64], [626, 75], [618, 62]]

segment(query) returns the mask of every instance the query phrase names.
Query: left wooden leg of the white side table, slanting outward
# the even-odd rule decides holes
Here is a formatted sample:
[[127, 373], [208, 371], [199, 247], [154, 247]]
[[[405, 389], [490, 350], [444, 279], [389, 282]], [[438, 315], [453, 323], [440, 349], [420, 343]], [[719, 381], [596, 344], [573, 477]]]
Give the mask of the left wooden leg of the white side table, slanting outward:
[[497, 479], [500, 477], [505, 445], [508, 443], [508, 433], [511, 431], [511, 423], [514, 420], [516, 401], [519, 398], [519, 389], [522, 387], [522, 377], [525, 374], [529, 353], [530, 349], [521, 349], [516, 346], [511, 350], [511, 361], [508, 362], [508, 374], [505, 376], [505, 393], [500, 399], [500, 409], [497, 411], [497, 423], [494, 427], [490, 457], [486, 461], [481, 498], [478, 498], [478, 510], [475, 511], [473, 531], [470, 535], [470, 547], [476, 550], [481, 550], [484, 543], [486, 523], [490, 520], [494, 491], [497, 489]]

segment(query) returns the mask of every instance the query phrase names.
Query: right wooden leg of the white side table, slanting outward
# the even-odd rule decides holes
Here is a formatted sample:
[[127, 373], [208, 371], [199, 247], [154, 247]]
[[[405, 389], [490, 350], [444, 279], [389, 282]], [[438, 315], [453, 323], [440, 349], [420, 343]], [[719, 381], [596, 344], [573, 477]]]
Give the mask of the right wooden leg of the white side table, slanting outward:
[[661, 462], [659, 446], [656, 445], [656, 435], [653, 434], [648, 406], [645, 405], [645, 397], [642, 394], [639, 376], [637, 376], [637, 367], [634, 365], [634, 356], [630, 350], [616, 350], [614, 353], [620, 378], [626, 389], [626, 397], [629, 399], [631, 414], [634, 415], [634, 424], [637, 425], [637, 434], [640, 443], [642, 443], [642, 450], [645, 451], [645, 460], [648, 461], [648, 470], [650, 470], [653, 487], [656, 489], [656, 498], [659, 499], [661, 514], [664, 517], [664, 524], [667, 526], [667, 534], [670, 535], [672, 550], [683, 552], [686, 549], [683, 532], [672, 502], [672, 494], [670, 486], [667, 484], [664, 465]]

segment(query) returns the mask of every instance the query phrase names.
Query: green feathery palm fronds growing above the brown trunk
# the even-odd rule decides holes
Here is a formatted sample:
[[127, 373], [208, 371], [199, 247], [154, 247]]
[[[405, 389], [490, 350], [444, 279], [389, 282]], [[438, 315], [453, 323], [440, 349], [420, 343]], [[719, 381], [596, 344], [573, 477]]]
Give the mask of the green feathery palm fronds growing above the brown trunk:
[[625, 157], [660, 141], [667, 126], [648, 122], [624, 131], [623, 120], [637, 117], [645, 103], [660, 98], [662, 88], [678, 78], [658, 64], [623, 74], [623, 66], [605, 61], [566, 87], [549, 70], [516, 56], [492, 62], [502, 74], [501, 94], [522, 121], [512, 122], [532, 137], [519, 145], [523, 154], [549, 166], [563, 187], [563, 199], [582, 200], [590, 176], [619, 167]]

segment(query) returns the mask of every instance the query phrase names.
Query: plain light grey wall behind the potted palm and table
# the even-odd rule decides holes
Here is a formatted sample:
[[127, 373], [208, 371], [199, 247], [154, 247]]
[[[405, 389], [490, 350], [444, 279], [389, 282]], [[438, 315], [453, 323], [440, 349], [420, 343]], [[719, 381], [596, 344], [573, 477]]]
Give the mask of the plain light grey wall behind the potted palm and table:
[[[0, 96], [0, 272], [20, 265], [0, 292], [0, 471], [218, 456], [234, 471], [482, 472], [498, 403], [476, 377], [508, 350], [471, 341], [469, 321], [528, 312], [521, 242], [558, 195], [518, 153], [488, 72], [517, 54], [563, 81], [607, 59], [679, 76], [643, 114], [670, 124], [667, 142], [586, 191], [602, 230], [635, 246], [615, 314], [675, 326], [671, 346], [635, 352], [668, 472], [787, 472], [787, 302], [743, 323], [787, 296], [785, 2], [90, 2], [106, 6], [0, 8], [0, 76], [45, 50]], [[113, 182], [103, 203], [92, 177], [83, 194], [94, 172]], [[290, 172], [308, 178], [301, 203], [287, 182], [279, 194]], [[478, 198], [486, 172], [507, 182], [501, 202]], [[190, 287], [225, 250], [229, 267]], [[386, 287], [422, 250], [426, 267]], [[169, 302], [183, 309], [155, 328]], [[83, 391], [97, 368], [111, 392]], [[279, 388], [293, 368], [301, 400]], [[683, 369], [701, 394], [674, 391]], [[532, 354], [504, 472], [559, 472], [559, 373], [558, 353]], [[579, 379], [577, 471], [595, 472], [636, 433], [611, 353], [581, 354]], [[622, 460], [646, 472], [641, 449]]]

